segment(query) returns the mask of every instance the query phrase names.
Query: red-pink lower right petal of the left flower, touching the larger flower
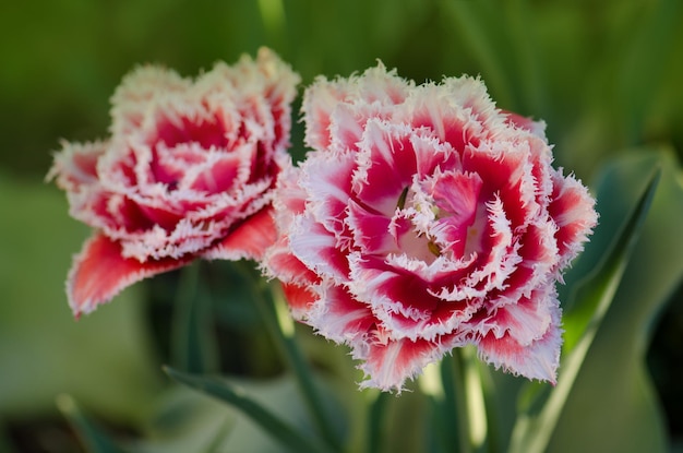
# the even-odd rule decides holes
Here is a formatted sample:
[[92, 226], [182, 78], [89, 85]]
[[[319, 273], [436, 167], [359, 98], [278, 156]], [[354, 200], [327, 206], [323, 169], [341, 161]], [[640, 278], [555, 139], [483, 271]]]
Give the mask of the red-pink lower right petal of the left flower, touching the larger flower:
[[277, 240], [272, 211], [267, 207], [252, 215], [202, 257], [207, 260], [260, 260]]

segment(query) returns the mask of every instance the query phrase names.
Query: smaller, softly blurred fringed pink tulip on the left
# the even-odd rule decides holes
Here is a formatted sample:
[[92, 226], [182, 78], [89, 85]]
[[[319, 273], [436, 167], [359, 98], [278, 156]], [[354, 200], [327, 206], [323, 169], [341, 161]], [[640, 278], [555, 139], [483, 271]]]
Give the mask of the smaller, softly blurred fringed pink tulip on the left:
[[67, 282], [76, 317], [196, 258], [263, 254], [298, 82], [267, 49], [195, 81], [156, 67], [123, 79], [111, 136], [64, 143], [48, 175], [71, 215], [96, 228]]

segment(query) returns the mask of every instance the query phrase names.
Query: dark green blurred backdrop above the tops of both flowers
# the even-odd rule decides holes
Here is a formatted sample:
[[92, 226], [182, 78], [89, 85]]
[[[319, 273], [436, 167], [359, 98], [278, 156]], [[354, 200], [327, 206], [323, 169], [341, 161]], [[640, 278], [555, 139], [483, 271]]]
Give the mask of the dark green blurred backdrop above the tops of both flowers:
[[499, 106], [548, 122], [590, 176], [627, 146], [683, 148], [683, 5], [675, 0], [259, 0], [0, 5], [0, 163], [43, 175], [59, 139], [101, 138], [136, 64], [193, 75], [274, 48], [303, 83], [381, 59], [417, 81], [479, 74]]

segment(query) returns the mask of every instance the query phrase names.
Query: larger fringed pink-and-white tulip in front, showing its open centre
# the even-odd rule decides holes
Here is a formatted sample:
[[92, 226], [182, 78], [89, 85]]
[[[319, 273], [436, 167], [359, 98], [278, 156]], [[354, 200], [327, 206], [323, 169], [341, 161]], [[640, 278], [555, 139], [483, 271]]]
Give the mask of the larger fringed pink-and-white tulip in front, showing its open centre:
[[382, 64], [319, 79], [303, 114], [313, 151], [280, 176], [265, 260], [293, 315], [351, 347], [361, 386], [400, 390], [469, 344], [554, 382], [555, 281], [597, 215], [551, 167], [543, 124], [477, 79], [416, 86]]

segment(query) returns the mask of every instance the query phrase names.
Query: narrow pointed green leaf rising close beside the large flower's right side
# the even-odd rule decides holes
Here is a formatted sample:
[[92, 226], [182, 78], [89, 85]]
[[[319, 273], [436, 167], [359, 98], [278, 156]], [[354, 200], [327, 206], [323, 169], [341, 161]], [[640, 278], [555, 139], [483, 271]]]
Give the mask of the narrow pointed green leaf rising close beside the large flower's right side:
[[[570, 338], [574, 334], [578, 335], [578, 339], [574, 341], [574, 345], [570, 345], [571, 353], [563, 357], [558, 385], [550, 392], [539, 413], [527, 412], [519, 415], [513, 430], [511, 452], [542, 453], [547, 450], [588, 349], [614, 300], [614, 294], [652, 201], [659, 175], [658, 166], [644, 166], [642, 163], [639, 166], [615, 166], [606, 174], [598, 191], [598, 211], [602, 215], [599, 228], [602, 233], [596, 231], [596, 236], [609, 236], [611, 233], [614, 240], [608, 247], [608, 255], [596, 273], [589, 274], [588, 279], [582, 284], [578, 291], [582, 310], [574, 310], [580, 312], [582, 317], [573, 318], [570, 313], [566, 318], [565, 325]], [[626, 184], [636, 188], [645, 186], [645, 190], [636, 198], [633, 207], [626, 211], [628, 213], [626, 219], [619, 226], [619, 220], [623, 218], [623, 212], [619, 207], [628, 205], [631, 200], [627, 196], [628, 191], [625, 190]], [[606, 207], [608, 204], [612, 210]], [[602, 211], [600, 206], [603, 207]], [[614, 208], [615, 206], [618, 208]], [[600, 241], [595, 247], [601, 247]], [[588, 323], [584, 321], [584, 312], [590, 313]], [[574, 321], [575, 319], [578, 321]], [[576, 330], [578, 334], [570, 332], [571, 329]]]

